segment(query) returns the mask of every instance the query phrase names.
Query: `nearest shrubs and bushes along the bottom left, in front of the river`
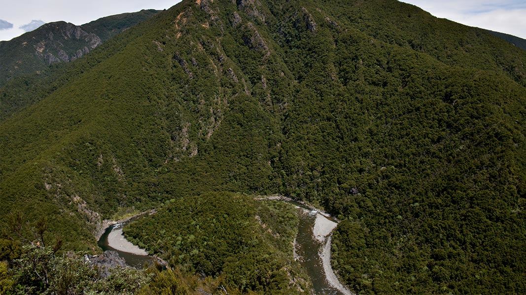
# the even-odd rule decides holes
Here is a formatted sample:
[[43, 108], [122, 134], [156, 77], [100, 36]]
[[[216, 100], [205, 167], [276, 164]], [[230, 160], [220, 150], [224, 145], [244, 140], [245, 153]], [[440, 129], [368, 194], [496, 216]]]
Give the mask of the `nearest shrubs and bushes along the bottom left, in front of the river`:
[[13, 260], [0, 261], [1, 294], [241, 294], [221, 278], [203, 278], [179, 269], [116, 267], [105, 277], [80, 254], [61, 255], [52, 247], [34, 245], [19, 250]]

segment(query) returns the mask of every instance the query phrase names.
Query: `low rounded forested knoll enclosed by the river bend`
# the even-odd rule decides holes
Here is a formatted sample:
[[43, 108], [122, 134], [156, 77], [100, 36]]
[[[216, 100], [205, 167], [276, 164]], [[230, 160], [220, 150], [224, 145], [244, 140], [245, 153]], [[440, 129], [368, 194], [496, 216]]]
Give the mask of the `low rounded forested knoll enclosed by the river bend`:
[[169, 201], [131, 224], [125, 236], [170, 265], [221, 276], [241, 291], [309, 293], [305, 270], [292, 256], [297, 214], [277, 201], [256, 204], [249, 196], [208, 193]]

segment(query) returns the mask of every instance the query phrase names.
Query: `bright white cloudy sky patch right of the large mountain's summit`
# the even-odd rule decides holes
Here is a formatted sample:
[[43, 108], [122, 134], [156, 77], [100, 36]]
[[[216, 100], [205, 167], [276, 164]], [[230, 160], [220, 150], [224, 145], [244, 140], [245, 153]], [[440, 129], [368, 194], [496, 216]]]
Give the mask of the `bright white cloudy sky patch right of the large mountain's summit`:
[[403, 0], [434, 16], [464, 25], [500, 31], [526, 39], [526, 1], [523, 0]]

